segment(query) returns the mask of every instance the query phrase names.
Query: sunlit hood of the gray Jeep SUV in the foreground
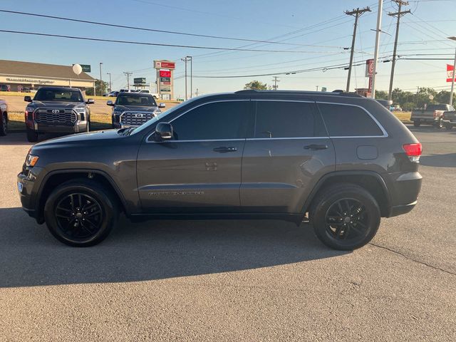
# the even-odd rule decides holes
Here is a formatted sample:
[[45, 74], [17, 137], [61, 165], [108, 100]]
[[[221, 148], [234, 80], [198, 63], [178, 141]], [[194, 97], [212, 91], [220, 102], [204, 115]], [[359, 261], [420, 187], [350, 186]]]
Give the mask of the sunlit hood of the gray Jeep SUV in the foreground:
[[[46, 140], [43, 142], [38, 142], [38, 144], [33, 145], [33, 151], [41, 150], [41, 149], [48, 149], [53, 147], [68, 147], [74, 145], [88, 145], [89, 143], [97, 144], [97, 143], [110, 143], [106, 142], [105, 140], [113, 140], [113, 139], [120, 139], [124, 138], [123, 135], [118, 134], [118, 130], [99, 130], [97, 132], [90, 132], [90, 133], [78, 133], [73, 135], [67, 135], [61, 138], [54, 138], [50, 140]], [[104, 141], [103, 141], [104, 140]]]

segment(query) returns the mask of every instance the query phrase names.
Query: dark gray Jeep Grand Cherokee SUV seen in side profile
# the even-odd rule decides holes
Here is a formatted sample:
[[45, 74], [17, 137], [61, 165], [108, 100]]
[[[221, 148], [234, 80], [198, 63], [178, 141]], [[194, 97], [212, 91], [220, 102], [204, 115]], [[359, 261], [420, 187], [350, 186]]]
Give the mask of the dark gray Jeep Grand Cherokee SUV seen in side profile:
[[421, 144], [375, 100], [255, 91], [193, 98], [139, 128], [34, 145], [24, 210], [71, 246], [101, 242], [120, 212], [153, 218], [309, 219], [335, 249], [410, 212]]

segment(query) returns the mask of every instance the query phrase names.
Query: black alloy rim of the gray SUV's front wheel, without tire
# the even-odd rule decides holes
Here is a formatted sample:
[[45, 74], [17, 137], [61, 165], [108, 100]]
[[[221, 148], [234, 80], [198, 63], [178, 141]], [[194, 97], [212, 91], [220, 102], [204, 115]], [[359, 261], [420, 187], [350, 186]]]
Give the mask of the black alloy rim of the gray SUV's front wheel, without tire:
[[93, 197], [74, 192], [61, 198], [54, 212], [61, 232], [68, 239], [90, 239], [103, 223], [103, 209]]

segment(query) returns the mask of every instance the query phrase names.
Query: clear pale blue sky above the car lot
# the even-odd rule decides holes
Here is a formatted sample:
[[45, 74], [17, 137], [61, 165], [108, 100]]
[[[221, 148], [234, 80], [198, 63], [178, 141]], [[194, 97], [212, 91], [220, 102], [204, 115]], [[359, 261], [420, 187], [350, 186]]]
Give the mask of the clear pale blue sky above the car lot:
[[[154, 59], [177, 62], [175, 76], [182, 76], [184, 65], [180, 58], [193, 56], [195, 76], [246, 76], [264, 73], [282, 73], [309, 68], [323, 68], [348, 64], [353, 33], [352, 16], [343, 12], [356, 7], [371, 6], [371, 12], [359, 19], [354, 61], [361, 63], [373, 57], [375, 23], [378, 1], [375, 0], [1, 0], [0, 9], [27, 11], [37, 14], [66, 16], [89, 21], [142, 26], [167, 31], [182, 31], [213, 36], [227, 36], [255, 40], [281, 41], [296, 45], [249, 43], [180, 36], [169, 33], [135, 31], [92, 24], [19, 16], [0, 13], [0, 29], [33, 31], [71, 36], [144, 41], [191, 46], [217, 46], [288, 51], [245, 52], [210, 51], [196, 48], [138, 46], [123, 43], [75, 41], [65, 38], [24, 36], [0, 33], [1, 58], [15, 61], [32, 61], [71, 65], [90, 64], [93, 77], [99, 78], [99, 63], [103, 62], [103, 80], [112, 73], [113, 89], [126, 86], [123, 71], [133, 71], [133, 77], [145, 77], [155, 81], [152, 69]], [[395, 87], [414, 90], [417, 86], [447, 89], [446, 63], [455, 53], [456, 0], [409, 1], [413, 14], [401, 19], [398, 54], [409, 58], [449, 58], [448, 61], [400, 60], [396, 64]], [[397, 11], [395, 3], [383, 4], [384, 33], [380, 40], [380, 57], [390, 56], [393, 51], [395, 19], [389, 11]], [[301, 51], [301, 52], [290, 52]], [[433, 56], [412, 56], [416, 54]], [[437, 54], [437, 55], [435, 55]], [[379, 63], [378, 87], [388, 90], [391, 63]], [[353, 69], [351, 90], [367, 87], [365, 66]], [[315, 90], [316, 86], [328, 90], [345, 89], [347, 71], [331, 69], [279, 75], [279, 89]], [[194, 78], [194, 93], [214, 93], [239, 90], [244, 84], [257, 79], [271, 85], [272, 76], [246, 78]], [[175, 81], [175, 95], [183, 97], [184, 79]], [[189, 81], [190, 88], [190, 81]], [[190, 90], [189, 90], [190, 92]]]

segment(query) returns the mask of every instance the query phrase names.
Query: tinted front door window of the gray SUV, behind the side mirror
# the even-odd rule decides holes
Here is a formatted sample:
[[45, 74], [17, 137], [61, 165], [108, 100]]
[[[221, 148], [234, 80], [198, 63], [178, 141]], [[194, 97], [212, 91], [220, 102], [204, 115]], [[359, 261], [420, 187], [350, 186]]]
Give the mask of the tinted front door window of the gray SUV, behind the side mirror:
[[172, 121], [176, 140], [245, 138], [249, 101], [208, 103]]

